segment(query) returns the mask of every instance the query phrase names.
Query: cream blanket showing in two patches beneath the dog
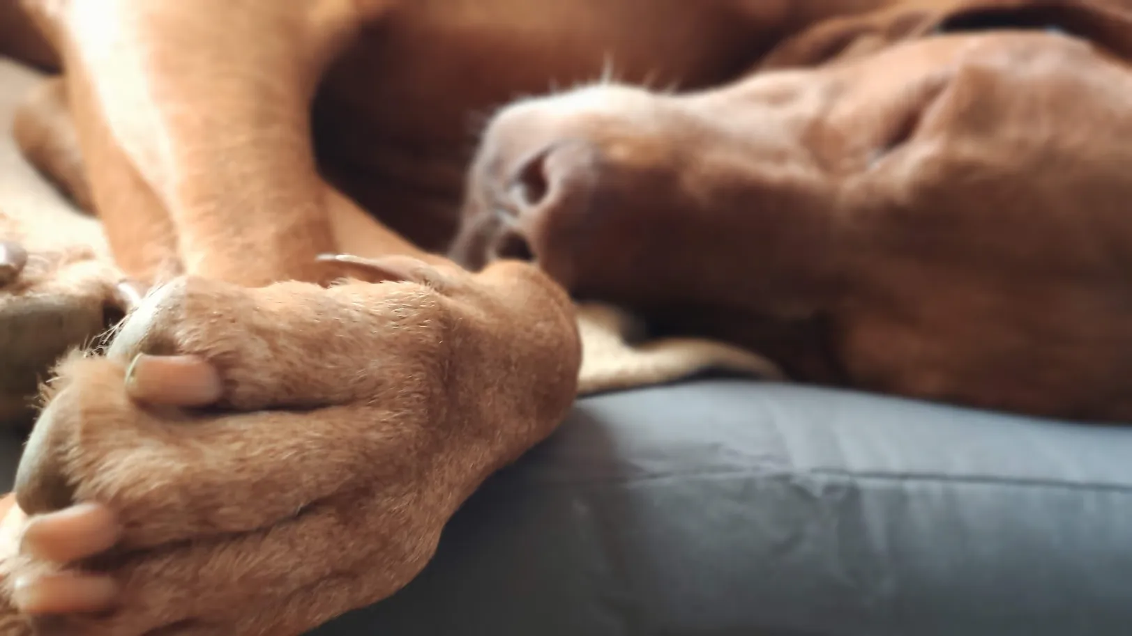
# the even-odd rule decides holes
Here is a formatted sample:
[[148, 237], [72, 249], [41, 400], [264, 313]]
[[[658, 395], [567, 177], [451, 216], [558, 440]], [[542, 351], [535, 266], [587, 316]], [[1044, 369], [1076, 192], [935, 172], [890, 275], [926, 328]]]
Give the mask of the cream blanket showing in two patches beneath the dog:
[[[19, 156], [11, 141], [11, 114], [16, 102], [37, 80], [36, 75], [0, 59], [0, 215], [16, 225], [46, 229], [28, 233], [52, 242], [85, 243], [106, 253], [98, 223], [78, 212]], [[583, 361], [582, 394], [672, 382], [711, 369], [765, 378], [781, 378], [769, 360], [741, 349], [700, 339], [643, 339], [641, 324], [624, 312], [604, 305], [580, 305]]]

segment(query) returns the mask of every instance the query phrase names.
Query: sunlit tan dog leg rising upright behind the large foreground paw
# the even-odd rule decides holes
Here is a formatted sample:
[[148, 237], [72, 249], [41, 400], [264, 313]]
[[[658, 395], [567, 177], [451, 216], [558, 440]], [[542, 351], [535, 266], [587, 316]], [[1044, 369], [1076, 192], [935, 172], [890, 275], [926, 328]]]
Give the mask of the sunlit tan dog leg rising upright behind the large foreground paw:
[[[337, 246], [309, 104], [360, 11], [383, 6], [40, 2], [63, 53], [93, 199], [115, 256], [137, 243], [130, 219], [138, 215], [123, 211], [131, 207], [121, 191], [142, 189], [168, 212], [187, 272], [243, 285], [320, 280], [315, 258]], [[121, 176], [129, 172], [122, 163], [137, 184]]]

